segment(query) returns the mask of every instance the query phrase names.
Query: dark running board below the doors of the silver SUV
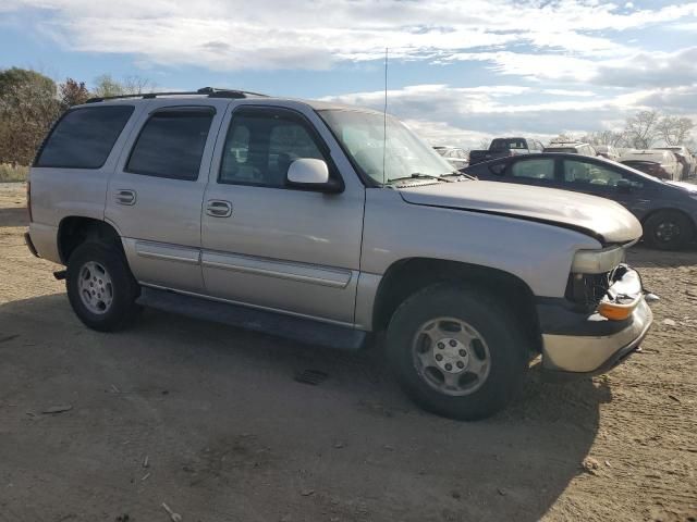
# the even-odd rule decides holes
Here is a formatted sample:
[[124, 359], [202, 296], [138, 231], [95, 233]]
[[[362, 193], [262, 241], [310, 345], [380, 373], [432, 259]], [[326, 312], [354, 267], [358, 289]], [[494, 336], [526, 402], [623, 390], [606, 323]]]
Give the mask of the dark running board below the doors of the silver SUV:
[[367, 338], [366, 332], [362, 330], [158, 288], [143, 287], [137, 303], [163, 312], [179, 313], [340, 350], [358, 350], [365, 346]]

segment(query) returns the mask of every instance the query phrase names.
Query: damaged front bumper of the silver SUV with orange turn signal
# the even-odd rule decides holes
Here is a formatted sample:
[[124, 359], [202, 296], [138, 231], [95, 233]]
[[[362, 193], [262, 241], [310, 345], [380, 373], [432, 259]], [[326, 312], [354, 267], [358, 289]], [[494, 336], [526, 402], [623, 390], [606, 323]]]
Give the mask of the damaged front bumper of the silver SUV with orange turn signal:
[[639, 274], [620, 266], [595, 312], [580, 313], [565, 299], [538, 304], [542, 368], [552, 378], [598, 375], [620, 364], [646, 336], [653, 314]]

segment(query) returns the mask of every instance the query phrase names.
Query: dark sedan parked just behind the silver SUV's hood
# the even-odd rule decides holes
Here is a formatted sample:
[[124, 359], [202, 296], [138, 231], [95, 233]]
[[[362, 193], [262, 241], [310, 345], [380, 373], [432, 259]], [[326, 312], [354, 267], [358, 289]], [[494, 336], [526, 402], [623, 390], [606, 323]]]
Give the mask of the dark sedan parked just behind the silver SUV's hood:
[[465, 169], [479, 179], [560, 188], [612, 199], [644, 225], [648, 246], [674, 250], [695, 238], [697, 186], [662, 182], [604, 158], [568, 153], [530, 154]]

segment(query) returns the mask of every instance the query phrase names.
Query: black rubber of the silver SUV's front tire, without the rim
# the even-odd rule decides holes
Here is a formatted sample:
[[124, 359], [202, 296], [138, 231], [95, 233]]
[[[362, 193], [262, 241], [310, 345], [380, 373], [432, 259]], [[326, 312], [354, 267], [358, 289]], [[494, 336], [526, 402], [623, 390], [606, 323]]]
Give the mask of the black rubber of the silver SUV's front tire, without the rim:
[[[421, 325], [438, 318], [464, 321], [488, 346], [488, 375], [468, 395], [452, 396], [435, 389], [425, 374], [437, 369], [425, 372], [417, 368], [414, 355], [417, 333]], [[436, 346], [431, 349], [437, 350]], [[388, 359], [406, 394], [423, 409], [457, 420], [484, 419], [503, 409], [524, 382], [529, 352], [523, 328], [499, 299], [475, 287], [448, 283], [427, 287], [407, 298], [392, 315], [387, 334]], [[441, 370], [441, 374], [445, 372]], [[462, 381], [463, 375], [458, 378]]]

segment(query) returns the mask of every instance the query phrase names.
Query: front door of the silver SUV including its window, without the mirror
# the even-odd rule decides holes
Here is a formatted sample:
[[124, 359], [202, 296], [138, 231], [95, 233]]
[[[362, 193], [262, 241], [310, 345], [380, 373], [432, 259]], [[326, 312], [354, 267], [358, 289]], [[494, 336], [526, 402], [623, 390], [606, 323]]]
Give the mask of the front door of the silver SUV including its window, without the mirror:
[[347, 172], [338, 145], [315, 113], [288, 108], [243, 104], [225, 127], [204, 197], [206, 291], [353, 323], [365, 188], [355, 175], [340, 194], [285, 184], [299, 158], [326, 161], [331, 176], [341, 176], [338, 165]]

